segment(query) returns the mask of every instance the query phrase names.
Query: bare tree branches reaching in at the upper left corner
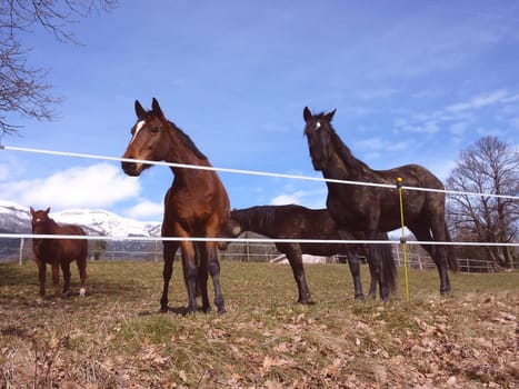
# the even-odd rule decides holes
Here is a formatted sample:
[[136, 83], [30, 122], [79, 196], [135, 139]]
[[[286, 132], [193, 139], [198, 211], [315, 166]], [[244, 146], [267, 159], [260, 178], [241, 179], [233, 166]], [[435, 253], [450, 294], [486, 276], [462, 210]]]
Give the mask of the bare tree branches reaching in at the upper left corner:
[[42, 28], [58, 41], [79, 44], [69, 27], [116, 6], [117, 0], [0, 0], [0, 136], [20, 128], [9, 113], [52, 120], [53, 107], [61, 101], [50, 94], [47, 71], [28, 63], [30, 48], [23, 47], [20, 37]]

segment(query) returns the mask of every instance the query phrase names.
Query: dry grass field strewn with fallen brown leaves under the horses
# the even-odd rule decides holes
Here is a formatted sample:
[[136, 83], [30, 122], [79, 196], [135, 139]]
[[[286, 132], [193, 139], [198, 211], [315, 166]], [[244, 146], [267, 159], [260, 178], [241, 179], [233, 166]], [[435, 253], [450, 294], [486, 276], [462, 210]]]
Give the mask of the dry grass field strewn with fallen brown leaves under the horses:
[[[519, 273], [399, 269], [389, 302], [355, 301], [348, 267], [222, 262], [226, 315], [158, 313], [161, 262], [88, 263], [87, 297], [37, 301], [34, 263], [0, 265], [0, 388], [519, 388]], [[365, 289], [368, 269], [362, 269]], [[48, 276], [48, 279], [50, 277]], [[212, 293], [211, 293], [212, 299]]]

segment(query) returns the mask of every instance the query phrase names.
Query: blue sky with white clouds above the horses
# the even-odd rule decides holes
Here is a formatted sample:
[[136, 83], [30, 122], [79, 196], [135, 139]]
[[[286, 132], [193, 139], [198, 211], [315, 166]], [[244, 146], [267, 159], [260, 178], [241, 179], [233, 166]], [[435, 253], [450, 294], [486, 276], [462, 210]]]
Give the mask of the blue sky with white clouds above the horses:
[[[302, 110], [333, 124], [375, 169], [419, 163], [447, 178], [483, 136], [519, 146], [517, 1], [121, 1], [72, 26], [34, 27], [28, 61], [49, 70], [59, 118], [2, 144], [120, 157], [133, 101], [182, 128], [214, 167], [320, 177]], [[325, 207], [323, 182], [220, 173], [231, 207]], [[0, 151], [0, 200], [102, 208], [161, 220], [172, 174], [116, 162]]]

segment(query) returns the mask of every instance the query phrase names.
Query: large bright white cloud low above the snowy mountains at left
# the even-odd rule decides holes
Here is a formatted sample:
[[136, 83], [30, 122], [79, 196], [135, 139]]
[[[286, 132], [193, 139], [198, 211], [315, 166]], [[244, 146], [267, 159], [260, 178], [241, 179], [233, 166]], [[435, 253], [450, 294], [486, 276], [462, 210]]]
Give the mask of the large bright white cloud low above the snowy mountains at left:
[[2, 199], [24, 206], [103, 208], [137, 197], [140, 183], [113, 164], [72, 167], [46, 178], [0, 184]]

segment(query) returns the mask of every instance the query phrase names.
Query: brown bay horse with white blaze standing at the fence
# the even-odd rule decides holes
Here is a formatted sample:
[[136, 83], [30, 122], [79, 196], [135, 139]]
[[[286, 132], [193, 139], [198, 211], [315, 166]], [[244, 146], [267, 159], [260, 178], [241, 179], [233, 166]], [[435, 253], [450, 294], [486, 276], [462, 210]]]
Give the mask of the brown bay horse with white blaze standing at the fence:
[[[159, 102], [153, 98], [151, 111], [146, 111], [136, 100], [137, 123], [131, 129], [131, 140], [124, 159], [167, 161], [173, 163], [210, 167], [207, 157], [174, 123], [166, 119]], [[139, 176], [151, 164], [123, 161], [122, 170]], [[227, 235], [230, 220], [229, 198], [218, 174], [211, 170], [172, 167], [174, 179], [164, 198], [162, 237], [218, 238]], [[218, 312], [226, 311], [220, 287], [218, 242], [190, 240], [163, 242], [164, 268], [160, 310], [168, 311], [168, 288], [173, 271], [177, 249], [182, 251], [183, 278], [188, 290], [188, 312], [197, 310], [197, 280], [202, 295], [202, 309], [209, 311], [208, 271], [214, 287], [214, 305]]]

